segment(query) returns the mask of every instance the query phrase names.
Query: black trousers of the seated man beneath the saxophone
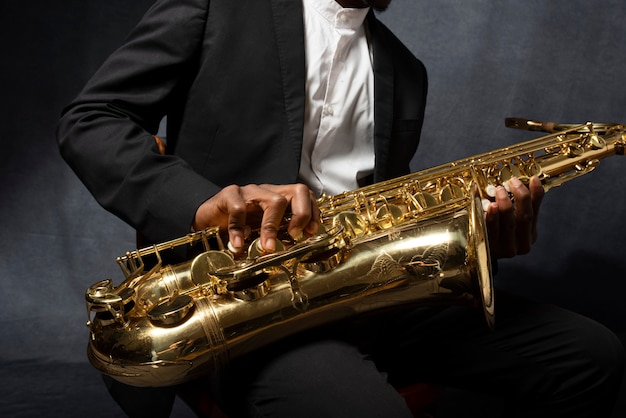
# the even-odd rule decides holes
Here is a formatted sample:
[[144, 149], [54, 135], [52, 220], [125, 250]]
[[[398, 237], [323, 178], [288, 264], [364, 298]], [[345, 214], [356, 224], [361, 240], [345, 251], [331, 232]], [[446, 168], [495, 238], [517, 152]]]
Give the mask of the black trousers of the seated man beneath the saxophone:
[[[476, 394], [443, 405], [454, 417], [595, 418], [610, 415], [623, 363], [602, 325], [498, 292], [493, 332], [470, 308], [386, 313], [304, 332], [197, 384], [232, 417], [410, 417], [394, 386], [423, 381]], [[110, 389], [131, 416], [167, 416], [174, 396]]]

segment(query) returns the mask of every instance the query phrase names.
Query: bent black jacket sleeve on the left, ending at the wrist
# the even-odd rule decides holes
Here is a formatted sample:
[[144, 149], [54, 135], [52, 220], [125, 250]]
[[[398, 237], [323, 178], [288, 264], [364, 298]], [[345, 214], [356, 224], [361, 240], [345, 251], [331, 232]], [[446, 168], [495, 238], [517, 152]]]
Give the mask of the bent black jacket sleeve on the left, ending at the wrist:
[[157, 1], [57, 127], [63, 158], [97, 201], [155, 242], [187, 233], [197, 207], [219, 190], [161, 155], [153, 138], [194, 76], [208, 4]]

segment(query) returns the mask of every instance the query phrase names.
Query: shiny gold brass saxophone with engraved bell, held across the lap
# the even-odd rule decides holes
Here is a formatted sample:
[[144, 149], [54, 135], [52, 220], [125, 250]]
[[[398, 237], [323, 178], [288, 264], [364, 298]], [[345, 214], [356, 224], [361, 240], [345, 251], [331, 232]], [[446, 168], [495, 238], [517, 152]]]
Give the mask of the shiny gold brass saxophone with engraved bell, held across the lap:
[[[134, 386], [183, 383], [288, 335], [387, 308], [458, 304], [494, 323], [483, 205], [495, 187], [537, 175], [546, 190], [623, 155], [623, 125], [506, 119], [550, 132], [336, 196], [317, 235], [284, 233], [275, 252], [244, 256], [217, 228], [118, 257], [125, 280], [86, 291], [92, 365]], [[257, 238], [258, 240], [258, 238]], [[183, 262], [168, 264], [170, 253]]]

